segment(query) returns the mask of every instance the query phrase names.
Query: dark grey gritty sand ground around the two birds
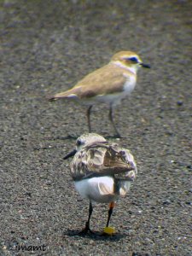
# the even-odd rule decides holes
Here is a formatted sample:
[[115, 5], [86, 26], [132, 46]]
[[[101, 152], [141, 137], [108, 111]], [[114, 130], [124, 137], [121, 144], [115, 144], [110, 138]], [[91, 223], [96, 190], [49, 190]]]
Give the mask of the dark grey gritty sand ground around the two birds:
[[[0, 255], [191, 255], [191, 2], [0, 4]], [[116, 236], [75, 236], [88, 202], [62, 158], [87, 131], [85, 108], [46, 96], [121, 49], [152, 68], [115, 109], [122, 139], [113, 137], [107, 106], [91, 122], [131, 149], [138, 176], [114, 209]], [[107, 213], [95, 206], [93, 230], [102, 231]]]

